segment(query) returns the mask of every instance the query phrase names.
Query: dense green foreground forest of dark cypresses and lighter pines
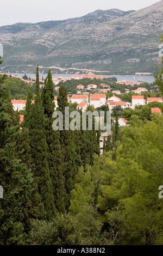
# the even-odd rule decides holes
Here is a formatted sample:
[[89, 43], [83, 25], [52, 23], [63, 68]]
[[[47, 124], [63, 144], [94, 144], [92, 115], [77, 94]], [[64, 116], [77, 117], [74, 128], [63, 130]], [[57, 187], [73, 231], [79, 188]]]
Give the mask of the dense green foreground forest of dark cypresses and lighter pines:
[[[127, 109], [130, 125], [120, 129], [115, 111], [100, 156], [99, 131], [53, 130], [51, 70], [41, 94], [38, 66], [35, 90], [21, 92], [21, 124], [8, 79], [0, 78], [0, 245], [163, 245], [162, 115], [151, 106]], [[66, 106], [62, 84], [63, 115]]]

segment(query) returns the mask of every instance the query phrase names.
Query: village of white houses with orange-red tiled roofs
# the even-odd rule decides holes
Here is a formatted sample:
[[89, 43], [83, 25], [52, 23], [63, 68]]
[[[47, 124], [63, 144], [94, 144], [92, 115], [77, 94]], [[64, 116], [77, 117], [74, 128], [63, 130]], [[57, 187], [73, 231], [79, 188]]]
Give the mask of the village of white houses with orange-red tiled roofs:
[[[147, 73], [136, 73], [136, 75], [147, 75]], [[148, 74], [149, 75], [149, 74]], [[10, 76], [10, 75], [8, 75]], [[20, 78], [22, 81], [27, 82], [27, 83], [35, 83], [35, 78], [24, 80], [22, 77], [18, 76], [12, 76], [12, 77], [17, 77]], [[80, 80], [83, 78], [91, 78], [93, 79], [101, 79], [103, 80], [104, 78], [108, 78], [108, 76], [105, 75], [95, 75], [93, 73], [88, 73], [88, 74], [82, 74], [82, 75], [72, 75], [69, 77], [55, 77], [53, 78], [53, 83], [54, 83], [54, 90], [58, 93], [59, 92], [59, 82], [65, 82], [67, 80]], [[42, 82], [42, 78], [40, 78], [40, 82]], [[135, 84], [137, 86], [140, 86], [141, 82], [133, 82], [133, 81], [117, 81], [117, 84], [125, 84], [127, 86], [134, 86]], [[121, 106], [121, 108], [124, 110], [126, 108], [132, 108], [134, 109], [135, 106], [140, 106], [140, 105], [146, 105], [149, 102], [163, 102], [163, 99], [161, 97], [147, 97], [147, 100], [145, 100], [144, 96], [141, 95], [142, 92], [148, 92], [146, 88], [139, 87], [136, 90], [129, 90], [126, 89], [126, 93], [129, 92], [134, 92], [136, 94], [140, 95], [133, 95], [132, 96], [132, 102], [126, 102], [122, 101], [118, 95], [121, 95], [120, 90], [113, 90], [112, 93], [114, 94], [111, 97], [108, 97], [106, 99], [106, 94], [108, 90], [110, 90], [110, 86], [102, 83], [100, 86], [103, 88], [98, 88], [96, 84], [88, 84], [87, 87], [85, 88], [82, 84], [77, 85], [77, 94], [73, 94], [72, 96], [67, 96], [67, 100], [70, 103], [77, 103], [77, 110], [80, 111], [86, 111], [89, 106], [93, 106], [95, 109], [100, 108], [103, 105], [108, 105], [109, 111], [113, 113], [113, 108], [116, 106]], [[43, 84], [40, 84], [40, 88], [43, 87]], [[90, 94], [90, 90], [92, 93]], [[89, 92], [88, 92], [89, 91]], [[150, 90], [152, 92], [152, 90]], [[12, 105], [14, 110], [21, 111], [26, 108], [26, 100], [12, 100]], [[55, 102], [55, 109], [58, 107], [58, 102], [57, 102], [57, 96], [54, 97], [54, 102]], [[34, 100], [32, 101], [34, 103]], [[161, 114], [161, 109], [160, 108], [152, 108], [151, 111], [154, 113], [159, 113]], [[23, 115], [21, 115], [20, 122], [23, 120]], [[128, 121], [120, 118], [119, 119], [119, 125], [120, 126], [126, 126]]]

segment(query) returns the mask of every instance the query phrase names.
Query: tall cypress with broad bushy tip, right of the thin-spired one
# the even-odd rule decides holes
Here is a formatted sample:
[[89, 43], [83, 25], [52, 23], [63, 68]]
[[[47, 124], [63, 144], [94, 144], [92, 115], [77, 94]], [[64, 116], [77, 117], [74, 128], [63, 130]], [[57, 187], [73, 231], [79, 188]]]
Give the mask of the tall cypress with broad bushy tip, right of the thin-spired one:
[[65, 212], [65, 187], [63, 179], [63, 157], [60, 145], [60, 132], [54, 131], [53, 112], [54, 112], [54, 86], [52, 81], [51, 70], [45, 79], [45, 86], [41, 94], [42, 106], [46, 116], [46, 141], [48, 145], [47, 160], [53, 182], [53, 196], [57, 210]]

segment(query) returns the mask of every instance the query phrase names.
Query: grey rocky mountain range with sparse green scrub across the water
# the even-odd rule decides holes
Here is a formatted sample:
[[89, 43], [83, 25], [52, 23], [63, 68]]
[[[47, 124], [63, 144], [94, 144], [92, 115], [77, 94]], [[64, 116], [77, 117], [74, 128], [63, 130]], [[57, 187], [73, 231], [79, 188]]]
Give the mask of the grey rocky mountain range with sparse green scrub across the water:
[[62, 21], [16, 23], [0, 27], [3, 71], [64, 72], [69, 69], [109, 74], [153, 72], [163, 31], [163, 1], [141, 10], [96, 10]]

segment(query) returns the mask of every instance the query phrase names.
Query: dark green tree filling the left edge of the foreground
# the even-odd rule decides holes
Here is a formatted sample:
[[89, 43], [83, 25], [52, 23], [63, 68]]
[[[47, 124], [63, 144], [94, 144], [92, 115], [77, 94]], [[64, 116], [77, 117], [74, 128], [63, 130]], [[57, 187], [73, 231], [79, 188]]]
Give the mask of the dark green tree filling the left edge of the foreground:
[[29, 225], [33, 176], [22, 164], [16, 151], [20, 136], [15, 126], [8, 88], [0, 89], [0, 177], [3, 199], [0, 200], [0, 244], [24, 245]]

